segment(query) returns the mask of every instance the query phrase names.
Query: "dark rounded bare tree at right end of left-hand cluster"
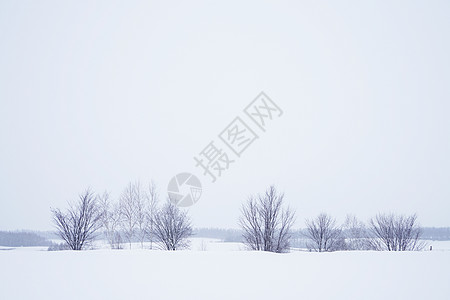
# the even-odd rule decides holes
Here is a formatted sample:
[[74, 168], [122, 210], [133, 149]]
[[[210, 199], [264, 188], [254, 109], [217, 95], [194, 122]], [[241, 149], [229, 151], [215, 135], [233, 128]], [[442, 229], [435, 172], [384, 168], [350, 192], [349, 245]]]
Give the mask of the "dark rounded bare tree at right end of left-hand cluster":
[[154, 236], [161, 249], [178, 250], [189, 247], [192, 225], [186, 211], [167, 201], [154, 217]]

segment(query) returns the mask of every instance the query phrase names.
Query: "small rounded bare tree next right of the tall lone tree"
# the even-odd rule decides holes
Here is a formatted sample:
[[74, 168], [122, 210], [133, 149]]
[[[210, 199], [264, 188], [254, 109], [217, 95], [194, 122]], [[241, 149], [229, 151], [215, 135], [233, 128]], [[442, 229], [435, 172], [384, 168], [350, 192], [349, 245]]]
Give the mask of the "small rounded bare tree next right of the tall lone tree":
[[331, 216], [321, 213], [313, 220], [306, 220], [306, 236], [311, 240], [308, 248], [317, 252], [341, 249], [343, 238], [341, 229]]

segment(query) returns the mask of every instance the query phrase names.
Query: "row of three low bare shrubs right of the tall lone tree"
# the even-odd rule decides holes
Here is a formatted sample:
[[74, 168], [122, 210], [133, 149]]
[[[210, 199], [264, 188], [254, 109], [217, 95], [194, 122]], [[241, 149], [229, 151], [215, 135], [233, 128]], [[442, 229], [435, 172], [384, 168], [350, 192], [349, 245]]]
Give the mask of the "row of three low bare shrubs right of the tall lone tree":
[[414, 251], [422, 250], [422, 229], [417, 215], [378, 214], [368, 225], [348, 215], [338, 226], [336, 219], [321, 213], [306, 221], [306, 237], [310, 251], [337, 250]]

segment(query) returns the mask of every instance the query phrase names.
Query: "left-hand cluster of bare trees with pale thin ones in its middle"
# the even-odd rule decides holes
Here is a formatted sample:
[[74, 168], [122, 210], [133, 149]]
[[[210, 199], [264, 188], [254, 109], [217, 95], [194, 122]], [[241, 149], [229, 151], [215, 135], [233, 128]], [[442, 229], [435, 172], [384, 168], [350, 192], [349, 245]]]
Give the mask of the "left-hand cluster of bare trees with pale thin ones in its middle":
[[117, 201], [108, 193], [95, 195], [86, 191], [76, 205], [66, 212], [53, 209], [53, 218], [59, 236], [72, 250], [86, 249], [103, 230], [112, 249], [123, 248], [133, 242], [142, 248], [149, 242], [150, 249], [177, 250], [188, 247], [187, 238], [192, 227], [185, 211], [169, 200], [159, 206], [159, 196], [152, 182], [143, 187], [130, 183]]

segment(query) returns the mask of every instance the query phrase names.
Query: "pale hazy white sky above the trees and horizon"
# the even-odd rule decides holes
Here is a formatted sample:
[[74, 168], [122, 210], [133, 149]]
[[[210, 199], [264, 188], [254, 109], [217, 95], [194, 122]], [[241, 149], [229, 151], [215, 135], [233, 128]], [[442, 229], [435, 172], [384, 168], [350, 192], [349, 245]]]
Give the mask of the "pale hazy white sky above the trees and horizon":
[[[449, 16], [449, 1], [3, 0], [0, 229], [51, 229], [50, 207], [87, 187], [154, 179], [165, 197], [180, 172], [202, 182], [199, 227], [236, 227], [270, 184], [298, 227], [322, 211], [449, 226]], [[211, 183], [193, 157], [261, 91], [284, 114]]]

